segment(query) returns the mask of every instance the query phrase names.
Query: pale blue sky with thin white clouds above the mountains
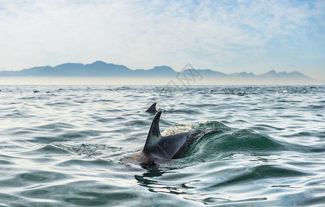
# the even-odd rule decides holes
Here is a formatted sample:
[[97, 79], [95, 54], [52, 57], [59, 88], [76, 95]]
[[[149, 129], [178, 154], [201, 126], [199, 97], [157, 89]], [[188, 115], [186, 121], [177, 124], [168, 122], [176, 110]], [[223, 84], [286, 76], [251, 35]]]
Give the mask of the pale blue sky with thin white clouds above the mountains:
[[105, 61], [131, 69], [299, 71], [325, 81], [325, 0], [0, 0], [0, 70]]

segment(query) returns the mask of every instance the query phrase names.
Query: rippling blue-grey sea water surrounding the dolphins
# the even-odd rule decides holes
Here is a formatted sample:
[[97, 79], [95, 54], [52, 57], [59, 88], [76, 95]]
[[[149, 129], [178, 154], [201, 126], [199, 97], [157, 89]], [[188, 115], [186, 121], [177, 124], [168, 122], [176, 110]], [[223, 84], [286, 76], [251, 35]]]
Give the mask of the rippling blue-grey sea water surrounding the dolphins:
[[[0, 206], [325, 205], [325, 86], [0, 89]], [[205, 134], [143, 168], [154, 102]]]

